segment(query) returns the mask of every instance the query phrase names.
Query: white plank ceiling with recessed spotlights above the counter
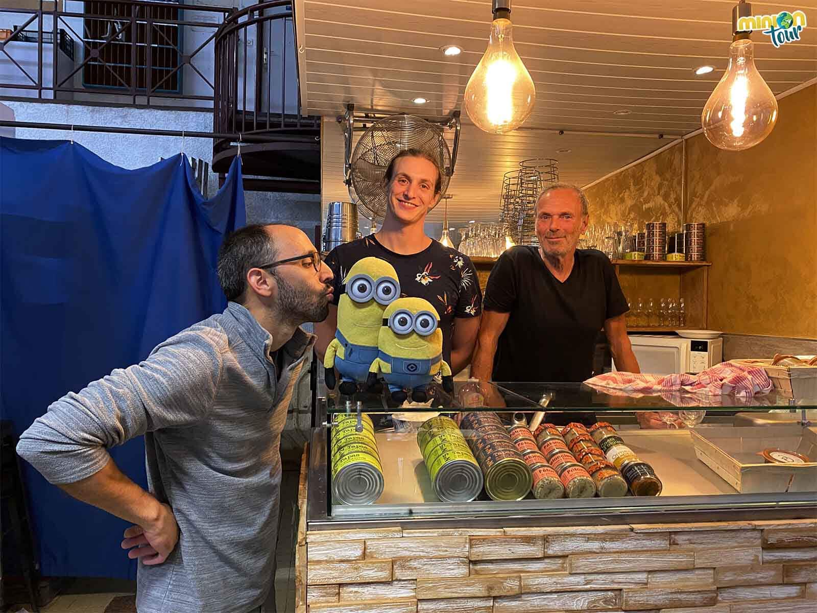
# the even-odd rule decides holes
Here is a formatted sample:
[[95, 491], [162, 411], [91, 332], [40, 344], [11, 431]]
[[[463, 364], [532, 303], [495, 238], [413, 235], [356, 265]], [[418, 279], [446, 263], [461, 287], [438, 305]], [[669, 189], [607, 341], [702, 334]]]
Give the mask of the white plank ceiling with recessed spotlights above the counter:
[[[349, 199], [335, 122], [347, 102], [358, 110], [439, 118], [462, 109], [449, 186], [453, 224], [497, 217], [502, 175], [522, 159], [556, 158], [562, 181], [595, 181], [700, 128], [703, 104], [726, 66], [733, 6], [733, 0], [513, 2], [514, 41], [536, 84], [536, 106], [523, 129], [489, 135], [462, 109], [468, 77], [487, 46], [489, 0], [299, 0], [301, 105], [326, 118], [322, 199]], [[801, 41], [779, 48], [765, 34], [752, 34], [757, 67], [772, 91], [817, 77], [817, 0], [752, 7], [756, 15], [799, 9], [808, 19]], [[440, 47], [449, 44], [462, 54], [444, 56]], [[696, 76], [700, 65], [715, 71]], [[414, 105], [417, 96], [428, 102]], [[438, 217], [441, 208], [429, 221]]]

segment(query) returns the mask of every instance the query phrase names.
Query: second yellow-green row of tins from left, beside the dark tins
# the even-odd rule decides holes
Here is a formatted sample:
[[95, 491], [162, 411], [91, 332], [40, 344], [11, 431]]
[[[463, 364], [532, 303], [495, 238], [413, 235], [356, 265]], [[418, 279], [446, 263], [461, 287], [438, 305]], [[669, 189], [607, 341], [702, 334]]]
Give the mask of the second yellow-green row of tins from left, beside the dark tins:
[[462, 503], [480, 494], [480, 465], [453, 419], [439, 415], [423, 422], [417, 431], [417, 445], [437, 498]]

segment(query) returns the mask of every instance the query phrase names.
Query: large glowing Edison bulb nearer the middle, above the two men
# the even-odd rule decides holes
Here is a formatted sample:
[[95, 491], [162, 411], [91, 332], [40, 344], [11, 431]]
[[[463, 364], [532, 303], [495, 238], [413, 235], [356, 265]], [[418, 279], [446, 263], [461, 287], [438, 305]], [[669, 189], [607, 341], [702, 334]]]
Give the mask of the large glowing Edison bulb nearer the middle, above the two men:
[[493, 20], [488, 48], [465, 87], [465, 110], [484, 132], [515, 130], [534, 110], [534, 79], [513, 46], [512, 27], [511, 20]]

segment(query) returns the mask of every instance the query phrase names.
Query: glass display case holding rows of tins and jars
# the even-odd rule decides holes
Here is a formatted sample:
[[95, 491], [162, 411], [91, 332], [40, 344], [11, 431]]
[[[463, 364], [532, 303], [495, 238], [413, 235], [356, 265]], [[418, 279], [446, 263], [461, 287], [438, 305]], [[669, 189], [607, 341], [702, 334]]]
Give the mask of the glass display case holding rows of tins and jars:
[[318, 398], [309, 530], [817, 515], [817, 399], [454, 383]]

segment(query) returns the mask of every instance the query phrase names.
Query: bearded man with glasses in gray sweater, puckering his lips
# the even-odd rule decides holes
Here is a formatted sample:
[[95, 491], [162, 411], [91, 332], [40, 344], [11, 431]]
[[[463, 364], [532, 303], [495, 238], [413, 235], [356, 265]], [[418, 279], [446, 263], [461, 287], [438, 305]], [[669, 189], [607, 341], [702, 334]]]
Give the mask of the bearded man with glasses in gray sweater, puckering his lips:
[[[228, 305], [138, 365], [48, 407], [17, 451], [60, 488], [133, 524], [140, 613], [275, 611], [279, 442], [292, 387], [324, 320], [332, 271], [292, 226], [225, 239], [217, 273]], [[107, 448], [145, 435], [148, 483]]]

